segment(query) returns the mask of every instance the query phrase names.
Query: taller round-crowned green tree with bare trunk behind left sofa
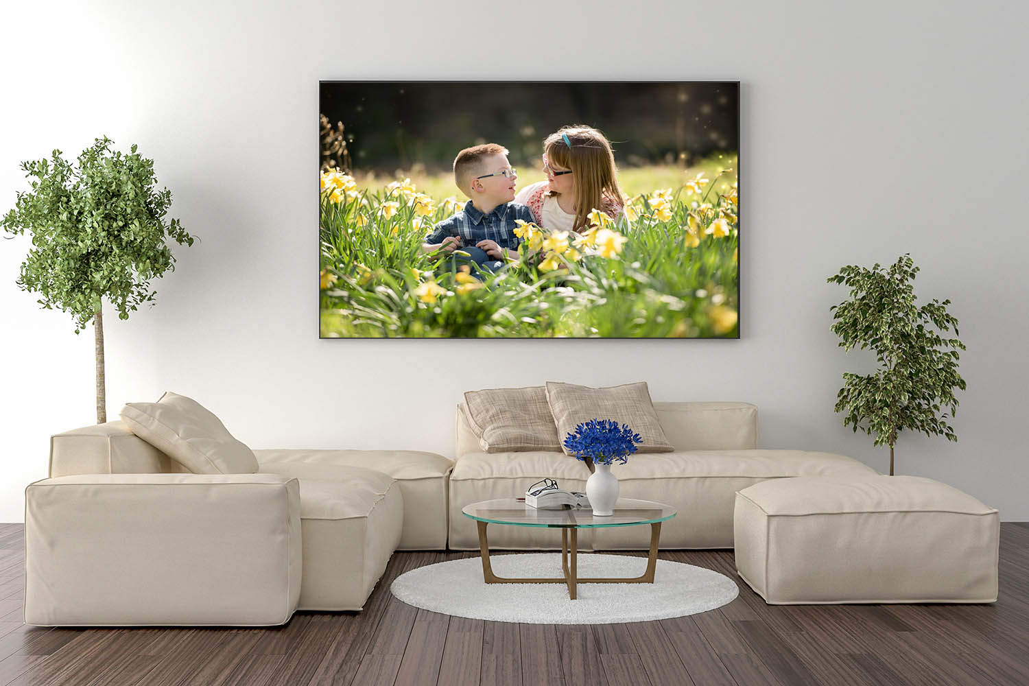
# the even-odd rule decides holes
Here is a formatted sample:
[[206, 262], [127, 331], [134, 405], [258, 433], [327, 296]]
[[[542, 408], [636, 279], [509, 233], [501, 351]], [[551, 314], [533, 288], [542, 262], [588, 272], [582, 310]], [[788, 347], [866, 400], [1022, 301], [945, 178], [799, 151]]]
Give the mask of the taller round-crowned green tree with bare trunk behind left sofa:
[[172, 193], [157, 189], [153, 160], [132, 146], [111, 150], [106, 137], [73, 166], [55, 150], [50, 159], [22, 164], [32, 190], [20, 192], [0, 220], [11, 234], [29, 231], [32, 249], [17, 285], [39, 293], [39, 303], [71, 313], [75, 333], [92, 320], [96, 331], [97, 422], [107, 421], [104, 391], [104, 325], [107, 298], [120, 319], [152, 302], [150, 279], [174, 269], [167, 239], [192, 245], [178, 219], [166, 221]]

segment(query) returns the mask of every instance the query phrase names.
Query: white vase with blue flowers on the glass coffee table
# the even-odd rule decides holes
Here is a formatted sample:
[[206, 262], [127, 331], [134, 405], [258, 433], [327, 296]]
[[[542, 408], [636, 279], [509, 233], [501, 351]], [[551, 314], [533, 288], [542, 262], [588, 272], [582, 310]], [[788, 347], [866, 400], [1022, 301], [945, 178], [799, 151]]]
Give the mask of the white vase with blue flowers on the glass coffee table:
[[618, 479], [611, 473], [611, 465], [626, 464], [636, 452], [636, 443], [642, 442], [629, 425], [619, 426], [614, 420], [592, 419], [576, 425], [575, 431], [565, 437], [565, 447], [593, 472], [586, 482], [586, 496], [594, 515], [603, 517], [613, 513], [618, 500]]

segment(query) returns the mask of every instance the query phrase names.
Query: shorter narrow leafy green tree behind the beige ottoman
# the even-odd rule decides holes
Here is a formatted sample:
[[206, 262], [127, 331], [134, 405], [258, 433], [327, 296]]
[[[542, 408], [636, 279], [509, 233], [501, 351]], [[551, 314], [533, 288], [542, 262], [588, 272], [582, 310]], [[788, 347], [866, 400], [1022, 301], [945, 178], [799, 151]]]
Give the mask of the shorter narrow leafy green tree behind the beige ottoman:
[[872, 350], [880, 365], [874, 374], [844, 372], [836, 411], [845, 413], [844, 426], [875, 434], [876, 445], [890, 446], [890, 475], [900, 431], [958, 439], [941, 408], [953, 417], [958, 407], [954, 390], [965, 388], [958, 375], [958, 350], [965, 347], [941, 335], [951, 328], [958, 335], [958, 320], [947, 313], [951, 301], [918, 306], [916, 274], [918, 267], [904, 254], [889, 269], [878, 262], [871, 269], [850, 265], [828, 279], [850, 288], [850, 299], [830, 308], [840, 347]]

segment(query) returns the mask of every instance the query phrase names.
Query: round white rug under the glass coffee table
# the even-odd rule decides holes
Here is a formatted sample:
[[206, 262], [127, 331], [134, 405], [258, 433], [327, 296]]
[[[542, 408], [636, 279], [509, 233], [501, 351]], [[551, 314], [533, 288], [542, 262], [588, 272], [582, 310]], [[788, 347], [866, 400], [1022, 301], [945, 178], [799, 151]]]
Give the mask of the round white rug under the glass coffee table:
[[[490, 556], [499, 577], [560, 578], [561, 553], [516, 553]], [[646, 558], [630, 555], [579, 554], [576, 576], [635, 577]], [[492, 583], [483, 581], [478, 557], [427, 565], [401, 574], [390, 586], [400, 601], [441, 614], [528, 624], [612, 624], [697, 614], [731, 603], [736, 582], [708, 569], [658, 561], [654, 583], [580, 583], [577, 600], [569, 600], [560, 583]]]

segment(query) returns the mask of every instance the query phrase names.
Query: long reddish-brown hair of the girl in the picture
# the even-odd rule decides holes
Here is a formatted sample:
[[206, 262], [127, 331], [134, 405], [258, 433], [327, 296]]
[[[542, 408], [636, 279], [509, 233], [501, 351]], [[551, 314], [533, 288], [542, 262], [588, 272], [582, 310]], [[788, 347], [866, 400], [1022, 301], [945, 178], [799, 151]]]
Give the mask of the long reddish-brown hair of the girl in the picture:
[[[570, 147], [565, 143], [566, 136]], [[602, 133], [584, 124], [562, 127], [543, 141], [543, 152], [549, 161], [572, 171], [576, 232], [589, 225], [587, 216], [593, 209], [610, 213], [622, 207], [614, 153]]]

